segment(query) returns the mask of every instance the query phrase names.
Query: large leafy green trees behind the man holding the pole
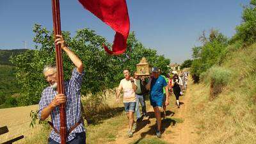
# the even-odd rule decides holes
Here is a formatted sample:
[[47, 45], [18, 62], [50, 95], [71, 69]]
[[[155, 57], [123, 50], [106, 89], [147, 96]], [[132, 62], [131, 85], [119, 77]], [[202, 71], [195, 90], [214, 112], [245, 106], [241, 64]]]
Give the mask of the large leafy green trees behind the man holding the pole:
[[[17, 67], [17, 79], [22, 86], [22, 105], [37, 104], [42, 90], [48, 85], [42, 74], [45, 65], [55, 63], [54, 37], [52, 31], [35, 24], [35, 50], [30, 50], [13, 56], [11, 61]], [[74, 37], [68, 31], [62, 31], [68, 47], [83, 61], [85, 76], [81, 92], [83, 95], [92, 93], [97, 95], [109, 88], [114, 88], [124, 76], [124, 68], [136, 70], [136, 64], [145, 57], [152, 65], [168, 71], [170, 60], [157, 55], [156, 50], [145, 48], [132, 32], [127, 40], [127, 51], [121, 56], [109, 56], [102, 49], [102, 44], [111, 46], [106, 38], [96, 35], [95, 31], [79, 29]], [[63, 52], [64, 79], [71, 76], [74, 65]]]

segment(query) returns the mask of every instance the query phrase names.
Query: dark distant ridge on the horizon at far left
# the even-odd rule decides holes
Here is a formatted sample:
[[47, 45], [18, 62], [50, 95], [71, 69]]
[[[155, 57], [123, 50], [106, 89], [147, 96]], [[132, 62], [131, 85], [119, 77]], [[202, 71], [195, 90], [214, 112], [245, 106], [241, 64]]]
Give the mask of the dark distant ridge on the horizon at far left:
[[28, 49], [0, 49], [0, 65], [12, 65], [12, 63], [9, 61], [10, 56], [17, 56], [25, 51], [28, 51]]

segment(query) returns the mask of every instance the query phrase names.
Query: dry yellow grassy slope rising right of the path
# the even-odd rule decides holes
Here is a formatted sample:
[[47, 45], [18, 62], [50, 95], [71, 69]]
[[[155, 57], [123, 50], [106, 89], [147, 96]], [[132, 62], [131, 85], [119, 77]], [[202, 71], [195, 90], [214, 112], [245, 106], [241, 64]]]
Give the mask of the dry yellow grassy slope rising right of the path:
[[[229, 52], [220, 68], [230, 72], [227, 86], [211, 100], [211, 70], [200, 77], [192, 95], [197, 143], [255, 143], [256, 44]], [[207, 76], [208, 75], [208, 76]]]

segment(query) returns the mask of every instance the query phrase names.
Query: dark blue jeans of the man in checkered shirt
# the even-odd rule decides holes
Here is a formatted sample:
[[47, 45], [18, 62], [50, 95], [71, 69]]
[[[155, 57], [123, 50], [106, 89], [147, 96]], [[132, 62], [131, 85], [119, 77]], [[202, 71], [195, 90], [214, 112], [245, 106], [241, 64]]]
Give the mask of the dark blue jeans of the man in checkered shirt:
[[[48, 141], [49, 141], [48, 144], [60, 144], [60, 143], [57, 143], [56, 141], [52, 140], [51, 138], [49, 138]], [[76, 133], [76, 138], [67, 142], [67, 144], [85, 144], [85, 143], [86, 143], [85, 132]]]

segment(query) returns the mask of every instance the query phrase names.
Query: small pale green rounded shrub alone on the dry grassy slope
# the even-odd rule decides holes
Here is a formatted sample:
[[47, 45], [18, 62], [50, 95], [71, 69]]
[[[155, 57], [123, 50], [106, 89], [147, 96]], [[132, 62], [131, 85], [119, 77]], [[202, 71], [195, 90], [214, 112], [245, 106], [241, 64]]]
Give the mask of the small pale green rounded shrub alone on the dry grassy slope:
[[210, 100], [213, 100], [230, 81], [231, 72], [226, 68], [212, 67], [209, 69], [209, 79], [211, 81]]

